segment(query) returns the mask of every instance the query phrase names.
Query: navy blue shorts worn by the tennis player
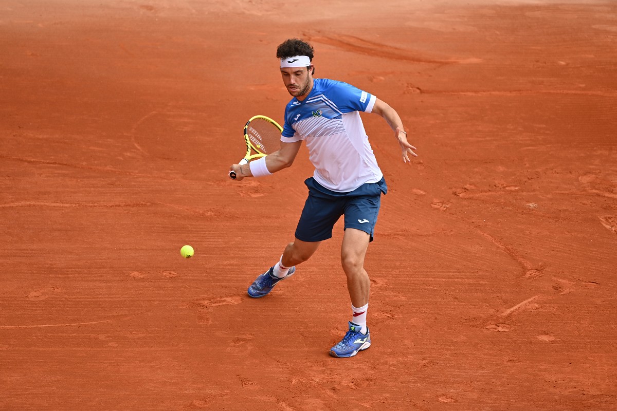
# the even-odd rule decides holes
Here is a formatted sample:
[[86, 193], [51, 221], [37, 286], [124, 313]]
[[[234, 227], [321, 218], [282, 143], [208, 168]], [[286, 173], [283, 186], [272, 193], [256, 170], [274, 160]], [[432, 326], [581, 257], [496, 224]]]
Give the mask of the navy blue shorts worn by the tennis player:
[[309, 197], [304, 204], [296, 228], [296, 238], [305, 242], [328, 240], [334, 224], [345, 216], [345, 229], [367, 232], [373, 241], [373, 232], [379, 214], [381, 194], [387, 192], [386, 181], [366, 183], [354, 191], [339, 193], [328, 190], [313, 177], [304, 181], [309, 187]]

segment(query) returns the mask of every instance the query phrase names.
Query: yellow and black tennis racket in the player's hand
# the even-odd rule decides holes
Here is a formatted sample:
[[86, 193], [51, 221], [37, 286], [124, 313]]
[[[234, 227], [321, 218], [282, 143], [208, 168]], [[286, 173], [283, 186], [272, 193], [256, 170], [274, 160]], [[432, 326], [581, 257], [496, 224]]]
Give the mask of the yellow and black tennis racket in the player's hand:
[[[244, 126], [244, 142], [246, 154], [239, 165], [247, 164], [255, 158], [271, 154], [281, 148], [281, 132], [283, 128], [267, 116], [253, 116]], [[254, 152], [254, 153], [253, 153]], [[236, 173], [230, 171], [230, 177], [236, 179]]]

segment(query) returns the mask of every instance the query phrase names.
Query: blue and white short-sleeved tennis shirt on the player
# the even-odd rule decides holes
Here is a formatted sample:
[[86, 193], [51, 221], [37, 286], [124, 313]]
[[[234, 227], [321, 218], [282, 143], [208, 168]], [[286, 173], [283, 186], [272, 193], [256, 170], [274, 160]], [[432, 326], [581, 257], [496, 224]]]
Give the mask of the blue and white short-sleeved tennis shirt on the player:
[[383, 177], [360, 111], [370, 113], [376, 97], [356, 87], [325, 78], [313, 79], [304, 101], [294, 97], [285, 107], [281, 141], [305, 140], [313, 177], [336, 192], [349, 192]]

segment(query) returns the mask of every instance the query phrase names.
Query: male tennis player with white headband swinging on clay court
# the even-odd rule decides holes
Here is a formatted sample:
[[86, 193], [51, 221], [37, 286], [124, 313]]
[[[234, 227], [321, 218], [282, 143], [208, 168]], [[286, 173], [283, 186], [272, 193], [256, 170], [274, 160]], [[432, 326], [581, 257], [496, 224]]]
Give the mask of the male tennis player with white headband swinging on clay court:
[[370, 281], [364, 269], [368, 243], [379, 213], [382, 193], [387, 192], [381, 169], [368, 142], [359, 112], [382, 116], [394, 131], [402, 159], [410, 163], [416, 148], [393, 108], [368, 92], [347, 83], [313, 78], [313, 47], [299, 39], [278, 46], [281, 76], [293, 96], [285, 108], [281, 149], [248, 164], [230, 167], [244, 177], [263, 177], [292, 165], [304, 140], [315, 173], [305, 181], [309, 197], [296, 228], [294, 242], [284, 249], [280, 260], [249, 287], [249, 296], [259, 298], [296, 272], [321, 241], [332, 237], [336, 221], [344, 216], [341, 245], [342, 268], [352, 303], [349, 328], [341, 342], [330, 349], [334, 357], [353, 357], [371, 345], [366, 327]]

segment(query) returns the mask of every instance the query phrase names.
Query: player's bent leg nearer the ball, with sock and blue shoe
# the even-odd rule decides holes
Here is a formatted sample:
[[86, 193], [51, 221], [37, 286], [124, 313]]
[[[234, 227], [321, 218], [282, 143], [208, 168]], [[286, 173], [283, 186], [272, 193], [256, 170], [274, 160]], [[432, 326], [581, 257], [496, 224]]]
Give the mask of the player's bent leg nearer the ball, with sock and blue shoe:
[[[247, 292], [249, 296], [252, 298], [260, 298], [272, 291], [272, 288], [281, 280], [286, 279], [287, 277], [291, 277], [294, 272], [296, 272], [296, 266], [301, 262], [307, 261], [314, 253], [317, 251], [318, 246], [321, 242], [305, 242], [302, 240], [298, 240], [297, 238], [293, 243], [289, 243], [285, 250], [283, 251], [283, 255], [281, 259], [276, 264], [280, 264], [281, 266], [273, 266], [268, 269], [265, 273], [257, 277], [255, 281], [249, 287]], [[283, 273], [281, 277], [275, 275], [275, 269], [279, 273]]]

